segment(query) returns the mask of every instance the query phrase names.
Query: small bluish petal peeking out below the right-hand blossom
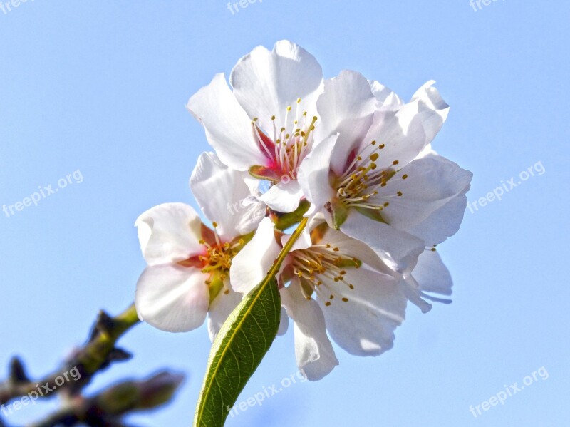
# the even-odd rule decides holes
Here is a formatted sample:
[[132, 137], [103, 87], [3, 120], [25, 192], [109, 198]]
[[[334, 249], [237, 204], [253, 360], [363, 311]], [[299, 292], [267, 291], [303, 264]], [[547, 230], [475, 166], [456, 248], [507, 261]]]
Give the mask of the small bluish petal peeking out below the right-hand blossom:
[[413, 277], [425, 292], [451, 295], [453, 281], [451, 274], [437, 251], [425, 250], [418, 258], [418, 264], [412, 272]]

